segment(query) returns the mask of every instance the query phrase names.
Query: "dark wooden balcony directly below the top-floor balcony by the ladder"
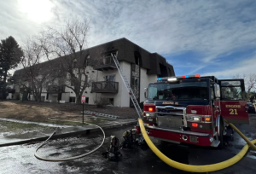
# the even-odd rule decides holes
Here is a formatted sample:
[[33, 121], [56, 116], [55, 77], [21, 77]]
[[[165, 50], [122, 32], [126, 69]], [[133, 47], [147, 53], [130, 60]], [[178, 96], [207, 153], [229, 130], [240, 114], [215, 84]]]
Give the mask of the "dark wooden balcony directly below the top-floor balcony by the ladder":
[[111, 81], [93, 82], [91, 92], [96, 93], [118, 93], [119, 83]]

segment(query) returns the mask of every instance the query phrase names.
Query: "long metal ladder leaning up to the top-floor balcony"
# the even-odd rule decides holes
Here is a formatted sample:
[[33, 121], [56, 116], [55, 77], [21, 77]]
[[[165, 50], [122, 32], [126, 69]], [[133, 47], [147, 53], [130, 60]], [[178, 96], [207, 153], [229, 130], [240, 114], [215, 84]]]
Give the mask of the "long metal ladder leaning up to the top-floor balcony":
[[118, 55], [118, 51], [116, 52], [116, 55], [111, 54], [111, 56], [113, 58], [113, 62], [115, 64], [115, 66], [117, 67], [117, 69], [119, 70], [119, 74], [120, 74], [123, 82], [125, 83], [125, 87], [126, 87], [126, 90], [129, 93], [129, 96], [131, 96], [131, 102], [133, 103], [133, 105], [134, 105], [134, 107], [135, 107], [135, 109], [137, 111], [138, 116], [140, 118], [142, 118], [143, 117], [143, 111], [142, 111], [139, 103], [137, 102], [136, 96], [134, 95], [133, 91], [131, 90], [131, 86], [130, 86], [127, 78], [125, 77], [125, 73], [123, 72], [122, 68], [119, 65], [119, 61], [117, 59], [117, 55]]

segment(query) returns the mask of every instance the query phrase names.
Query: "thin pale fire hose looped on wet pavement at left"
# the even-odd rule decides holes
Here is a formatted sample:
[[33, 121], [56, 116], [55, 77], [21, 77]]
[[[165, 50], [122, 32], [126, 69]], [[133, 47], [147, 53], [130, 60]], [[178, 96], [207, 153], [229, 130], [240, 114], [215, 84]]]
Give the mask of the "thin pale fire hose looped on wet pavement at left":
[[[84, 123], [85, 123], [85, 122], [84, 122]], [[90, 123], [85, 123], [85, 124], [94, 125], [94, 124], [90, 124]], [[60, 162], [60, 161], [67, 161], [67, 160], [73, 160], [73, 159], [80, 159], [80, 158], [83, 158], [84, 156], [87, 156], [87, 155], [89, 155], [89, 154], [92, 154], [92, 153], [96, 152], [96, 150], [97, 150], [98, 148], [101, 148], [101, 147], [102, 147], [102, 145], [103, 145], [103, 143], [104, 143], [104, 141], [105, 141], [105, 132], [102, 130], [102, 127], [100, 127], [100, 126], [98, 126], [98, 125], [94, 125], [94, 126], [96, 126], [96, 127], [98, 127], [98, 128], [101, 129], [101, 131], [102, 131], [102, 133], [103, 133], [103, 140], [102, 140], [102, 143], [101, 143], [97, 148], [91, 150], [90, 152], [88, 152], [88, 153], [86, 153], [86, 154], [80, 154], [80, 155], [78, 155], [78, 156], [73, 156], [73, 157], [65, 158], [65, 159], [46, 159], [46, 158], [40, 157], [40, 156], [37, 154], [39, 148], [42, 148], [42, 147], [49, 141], [49, 139], [50, 139], [52, 136], [55, 135], [56, 131], [54, 131], [54, 132], [52, 133], [52, 135], [49, 136], [49, 138], [47, 138], [47, 140], [45, 140], [45, 142], [43, 142], [43, 144], [41, 144], [41, 145], [36, 149], [36, 152], [35, 152], [35, 154], [34, 154], [35, 157], [36, 157], [37, 159], [41, 159], [41, 160], [44, 160], [44, 161]]]

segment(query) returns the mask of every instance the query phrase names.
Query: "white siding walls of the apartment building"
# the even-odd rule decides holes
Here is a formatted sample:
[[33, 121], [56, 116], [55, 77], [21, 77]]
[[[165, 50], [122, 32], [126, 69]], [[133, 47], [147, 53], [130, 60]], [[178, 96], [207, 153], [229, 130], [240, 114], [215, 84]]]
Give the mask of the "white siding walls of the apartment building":
[[[128, 82], [131, 82], [131, 63], [120, 61], [120, 67], [122, 68], [123, 72], [125, 73], [125, 77], [127, 78]], [[130, 96], [128, 91], [125, 88], [125, 84], [118, 72], [117, 69], [108, 70], [108, 71], [96, 71], [93, 70], [92, 67], [86, 67], [85, 73], [88, 75], [88, 80], [90, 84], [92, 82], [100, 82], [106, 81], [104, 78], [106, 75], [115, 75], [115, 82], [119, 82], [119, 90], [117, 94], [112, 93], [90, 93], [91, 87], [86, 88], [82, 95], [85, 97], [89, 97], [89, 104], [95, 104], [96, 99], [100, 99], [101, 97], [113, 98], [113, 105], [115, 107], [130, 107]], [[84, 78], [84, 77], [83, 77]], [[148, 83], [155, 82], [157, 80], [157, 75], [148, 75], [147, 69], [140, 68], [140, 101], [144, 102], [144, 88], [148, 87]], [[68, 84], [68, 82], [67, 82]], [[19, 90], [19, 87], [16, 87], [16, 90]], [[46, 87], [42, 91], [41, 97], [46, 100], [47, 90]], [[65, 93], [61, 94], [61, 101], [69, 102], [70, 97], [76, 97], [73, 90], [70, 88], [65, 87]], [[52, 102], [57, 102], [57, 94], [49, 94], [48, 100]]]

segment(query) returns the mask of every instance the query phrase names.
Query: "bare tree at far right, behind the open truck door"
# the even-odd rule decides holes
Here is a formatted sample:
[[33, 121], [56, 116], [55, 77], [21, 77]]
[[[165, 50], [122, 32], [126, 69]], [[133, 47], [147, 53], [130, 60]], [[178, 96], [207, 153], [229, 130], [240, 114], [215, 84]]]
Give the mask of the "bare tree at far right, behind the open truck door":
[[253, 89], [256, 89], [256, 74], [250, 73], [250, 74], [236, 74], [234, 78], [243, 78], [244, 83], [247, 89], [247, 93], [249, 94]]

